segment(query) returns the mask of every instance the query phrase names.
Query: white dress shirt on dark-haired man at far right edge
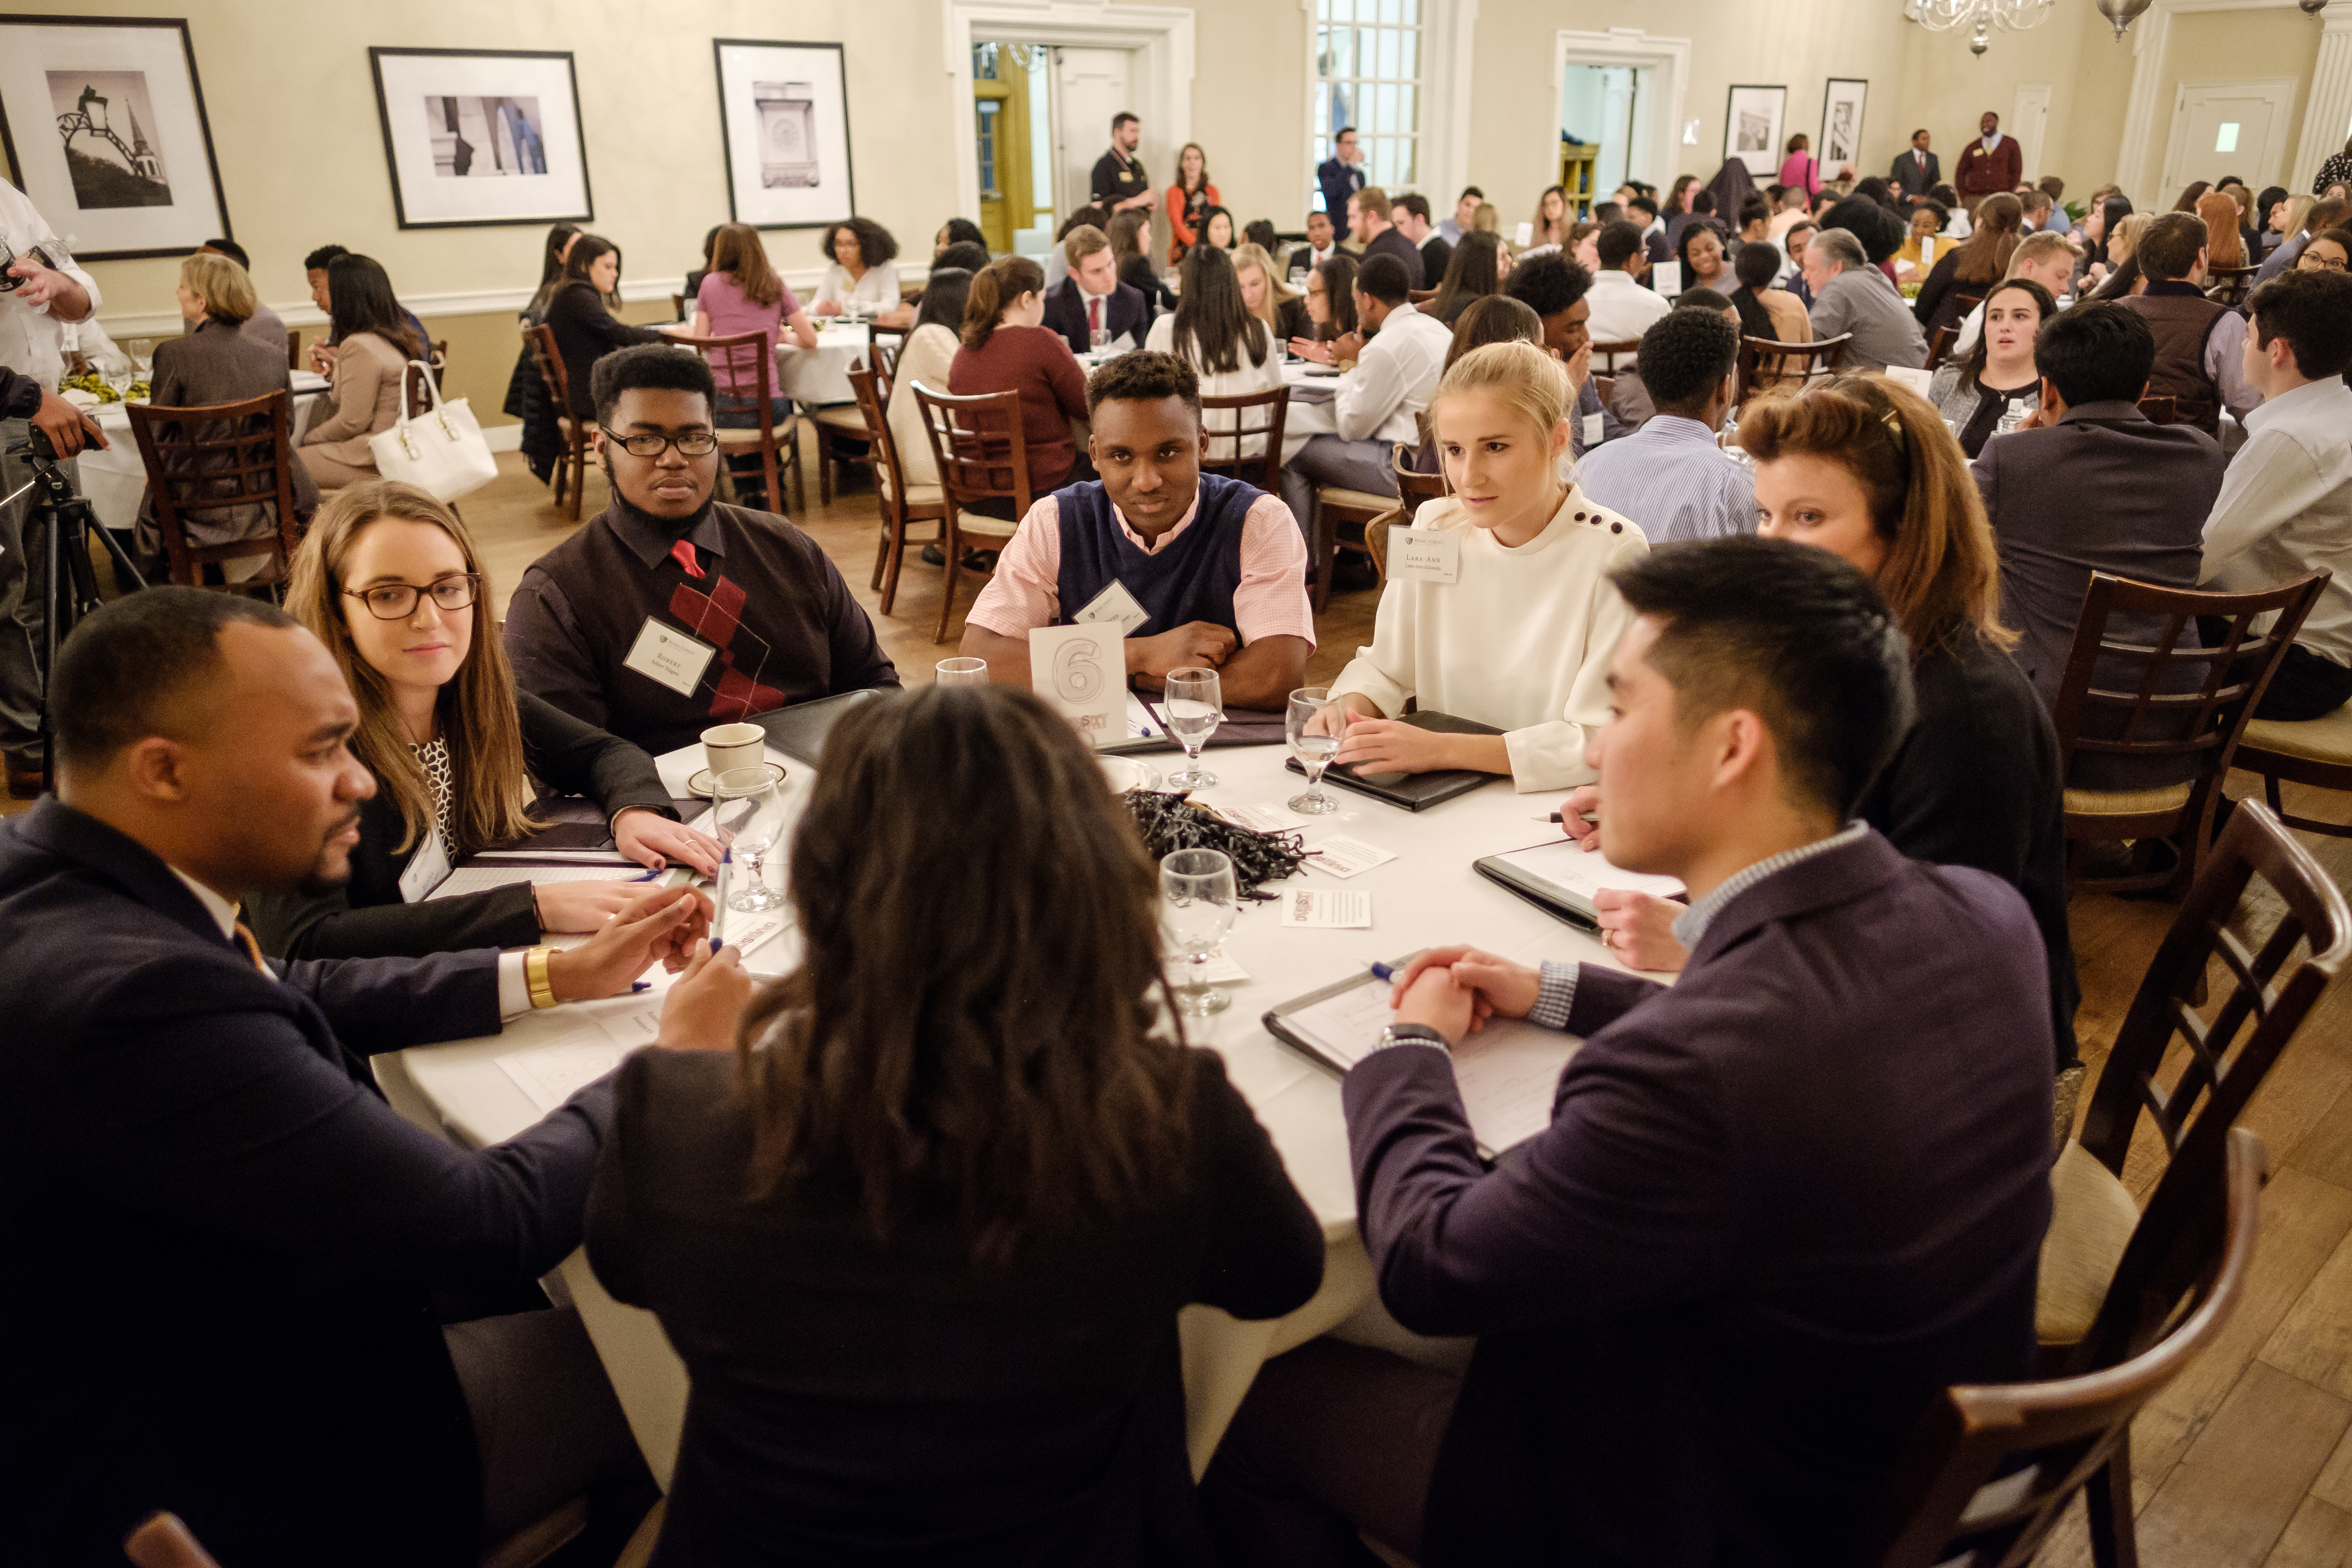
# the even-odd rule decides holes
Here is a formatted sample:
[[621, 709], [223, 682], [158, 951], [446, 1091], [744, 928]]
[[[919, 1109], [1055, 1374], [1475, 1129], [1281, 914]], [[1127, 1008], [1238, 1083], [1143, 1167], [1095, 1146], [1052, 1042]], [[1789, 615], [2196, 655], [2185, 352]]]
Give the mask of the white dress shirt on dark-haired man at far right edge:
[[2340, 376], [2246, 414], [2204, 529], [2209, 588], [2251, 592], [2319, 569], [2336, 576], [2296, 642], [2352, 665], [2352, 388]]

